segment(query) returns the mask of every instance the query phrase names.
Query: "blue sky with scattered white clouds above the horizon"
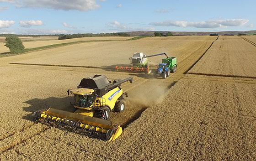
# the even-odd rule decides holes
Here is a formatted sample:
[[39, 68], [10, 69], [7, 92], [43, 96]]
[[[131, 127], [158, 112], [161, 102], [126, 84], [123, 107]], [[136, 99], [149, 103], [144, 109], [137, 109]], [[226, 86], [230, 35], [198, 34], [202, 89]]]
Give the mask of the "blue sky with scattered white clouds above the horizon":
[[0, 33], [256, 30], [256, 0], [0, 0]]

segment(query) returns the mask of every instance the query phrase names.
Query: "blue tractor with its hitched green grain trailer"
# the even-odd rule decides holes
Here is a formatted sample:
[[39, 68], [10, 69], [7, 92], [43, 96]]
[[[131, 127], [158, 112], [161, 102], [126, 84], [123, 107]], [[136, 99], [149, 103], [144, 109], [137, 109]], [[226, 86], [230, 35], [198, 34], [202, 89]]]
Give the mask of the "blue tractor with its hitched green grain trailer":
[[166, 78], [169, 77], [171, 72], [175, 73], [177, 69], [177, 58], [176, 57], [168, 57], [162, 59], [162, 62], [157, 66], [157, 70], [155, 71], [155, 77]]

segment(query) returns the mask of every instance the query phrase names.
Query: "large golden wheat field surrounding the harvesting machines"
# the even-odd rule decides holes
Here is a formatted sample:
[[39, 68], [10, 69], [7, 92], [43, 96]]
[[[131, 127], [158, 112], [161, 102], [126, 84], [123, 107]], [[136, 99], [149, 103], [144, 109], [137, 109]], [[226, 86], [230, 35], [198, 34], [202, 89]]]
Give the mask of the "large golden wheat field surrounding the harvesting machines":
[[[116, 72], [114, 66], [128, 65], [133, 52], [175, 56], [177, 72], [167, 79]], [[254, 161], [255, 52], [239, 36], [174, 36], [86, 42], [2, 57], [0, 160]], [[162, 58], [150, 58], [152, 68]], [[243, 68], [236, 65], [241, 59]], [[32, 121], [38, 109], [74, 110], [67, 89], [94, 74], [134, 78], [122, 84], [128, 92], [126, 110], [111, 113], [112, 122], [124, 128], [117, 140]]]

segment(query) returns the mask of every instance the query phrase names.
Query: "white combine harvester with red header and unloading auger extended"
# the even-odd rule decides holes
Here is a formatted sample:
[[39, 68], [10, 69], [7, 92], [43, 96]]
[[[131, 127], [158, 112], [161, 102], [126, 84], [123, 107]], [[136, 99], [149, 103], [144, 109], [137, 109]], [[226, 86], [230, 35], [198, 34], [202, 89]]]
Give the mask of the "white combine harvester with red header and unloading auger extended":
[[131, 67], [116, 66], [116, 70], [149, 74], [149, 73], [151, 73], [151, 70], [150, 70], [149, 64], [148, 64], [148, 62], [149, 62], [148, 57], [155, 57], [155, 56], [160, 56], [160, 55], [165, 55], [168, 58], [168, 56], [165, 53], [159, 53], [159, 54], [147, 56], [147, 55], [143, 55], [142, 52], [140, 52], [140, 53], [135, 52], [133, 54], [133, 57], [129, 57], [129, 60], [131, 60], [131, 64], [132, 64]]

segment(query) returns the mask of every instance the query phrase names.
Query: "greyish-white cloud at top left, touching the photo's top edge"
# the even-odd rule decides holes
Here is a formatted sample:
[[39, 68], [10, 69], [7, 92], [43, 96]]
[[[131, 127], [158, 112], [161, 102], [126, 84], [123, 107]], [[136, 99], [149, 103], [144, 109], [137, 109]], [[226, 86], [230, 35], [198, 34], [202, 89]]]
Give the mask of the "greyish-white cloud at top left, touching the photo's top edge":
[[14, 3], [16, 7], [48, 8], [54, 10], [88, 11], [99, 8], [96, 0], [0, 0]]

